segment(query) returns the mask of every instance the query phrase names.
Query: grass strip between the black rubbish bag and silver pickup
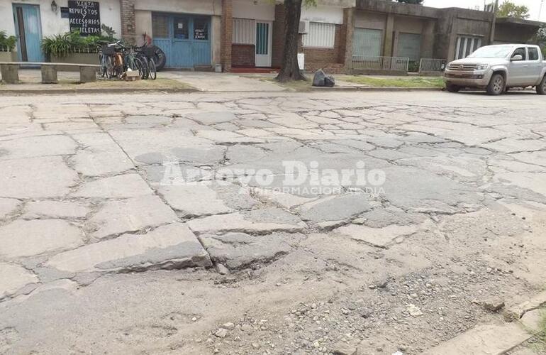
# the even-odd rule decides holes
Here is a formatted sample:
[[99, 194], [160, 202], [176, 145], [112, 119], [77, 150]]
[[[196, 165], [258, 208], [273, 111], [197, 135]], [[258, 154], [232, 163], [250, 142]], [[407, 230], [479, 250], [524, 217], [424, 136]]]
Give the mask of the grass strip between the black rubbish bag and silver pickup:
[[339, 80], [370, 87], [444, 87], [442, 77], [367, 77], [356, 75], [340, 76]]

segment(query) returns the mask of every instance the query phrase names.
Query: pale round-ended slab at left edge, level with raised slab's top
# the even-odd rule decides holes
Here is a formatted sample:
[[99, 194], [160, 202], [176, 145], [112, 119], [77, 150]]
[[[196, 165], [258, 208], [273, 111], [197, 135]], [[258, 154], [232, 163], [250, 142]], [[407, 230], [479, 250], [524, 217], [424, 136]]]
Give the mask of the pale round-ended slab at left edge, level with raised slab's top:
[[62, 219], [16, 220], [0, 226], [0, 258], [13, 259], [75, 248], [82, 231]]

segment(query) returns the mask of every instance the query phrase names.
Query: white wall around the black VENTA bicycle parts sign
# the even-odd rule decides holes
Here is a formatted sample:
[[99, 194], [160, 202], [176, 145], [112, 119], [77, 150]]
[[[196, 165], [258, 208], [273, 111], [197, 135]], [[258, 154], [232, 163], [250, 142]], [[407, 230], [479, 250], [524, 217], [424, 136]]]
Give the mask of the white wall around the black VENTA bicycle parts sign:
[[[35, 4], [40, 6], [40, 19], [42, 22], [42, 35], [48, 37], [69, 31], [68, 18], [61, 18], [60, 7], [68, 6], [68, 0], [55, 0], [57, 13], [51, 11], [51, 0], [0, 0], [0, 30], [9, 35], [15, 34], [12, 4]], [[110, 26], [121, 36], [121, 18], [119, 0], [99, 0], [101, 8], [101, 24]]]

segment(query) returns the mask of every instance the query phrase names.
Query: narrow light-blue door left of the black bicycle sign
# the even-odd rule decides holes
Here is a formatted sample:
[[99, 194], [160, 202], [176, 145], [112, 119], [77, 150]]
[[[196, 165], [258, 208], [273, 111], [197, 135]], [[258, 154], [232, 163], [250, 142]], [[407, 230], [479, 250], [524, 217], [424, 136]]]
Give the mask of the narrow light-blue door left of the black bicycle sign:
[[17, 55], [21, 62], [43, 62], [40, 6], [13, 4]]

